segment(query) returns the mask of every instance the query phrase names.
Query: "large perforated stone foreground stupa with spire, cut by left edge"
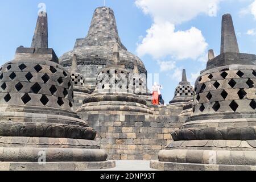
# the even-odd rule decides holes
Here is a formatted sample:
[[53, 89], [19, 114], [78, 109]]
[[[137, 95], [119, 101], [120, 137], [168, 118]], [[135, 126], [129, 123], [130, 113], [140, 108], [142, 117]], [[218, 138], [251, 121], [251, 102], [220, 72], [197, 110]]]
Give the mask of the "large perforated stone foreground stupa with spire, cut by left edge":
[[19, 47], [15, 59], [0, 68], [2, 170], [114, 167], [94, 142], [96, 130], [72, 111], [71, 75], [58, 62], [48, 48], [42, 12], [31, 48]]

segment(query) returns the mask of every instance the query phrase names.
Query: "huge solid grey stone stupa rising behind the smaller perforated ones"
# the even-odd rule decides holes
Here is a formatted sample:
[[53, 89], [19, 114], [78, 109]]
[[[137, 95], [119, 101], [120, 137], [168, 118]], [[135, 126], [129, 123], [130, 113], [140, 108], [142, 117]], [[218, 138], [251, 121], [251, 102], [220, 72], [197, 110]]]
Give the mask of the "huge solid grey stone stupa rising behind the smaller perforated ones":
[[107, 64], [113, 63], [115, 43], [119, 47], [120, 61], [126, 69], [133, 71], [137, 62], [139, 72], [147, 74], [141, 59], [123, 46], [118, 35], [114, 12], [109, 7], [98, 7], [94, 11], [88, 35], [86, 38], [76, 40], [74, 49], [60, 57], [60, 64], [70, 70], [72, 57], [76, 54], [78, 69], [85, 77], [86, 86], [93, 91], [98, 73], [104, 70]]

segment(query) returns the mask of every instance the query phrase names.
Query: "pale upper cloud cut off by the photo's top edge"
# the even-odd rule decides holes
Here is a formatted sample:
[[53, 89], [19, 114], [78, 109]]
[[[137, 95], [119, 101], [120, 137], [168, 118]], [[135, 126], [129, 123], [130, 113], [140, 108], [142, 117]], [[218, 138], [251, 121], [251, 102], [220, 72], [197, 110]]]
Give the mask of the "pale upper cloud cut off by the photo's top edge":
[[155, 23], [168, 21], [182, 23], [203, 13], [216, 16], [221, 0], [137, 0], [135, 4], [144, 14], [149, 14]]

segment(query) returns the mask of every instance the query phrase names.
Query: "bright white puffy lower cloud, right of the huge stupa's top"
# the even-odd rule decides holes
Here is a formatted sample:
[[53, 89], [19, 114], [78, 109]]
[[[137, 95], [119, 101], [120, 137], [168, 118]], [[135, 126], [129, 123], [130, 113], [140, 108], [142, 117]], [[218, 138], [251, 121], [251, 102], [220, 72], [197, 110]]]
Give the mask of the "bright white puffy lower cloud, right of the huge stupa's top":
[[139, 56], [151, 55], [154, 59], [171, 55], [174, 59], [197, 59], [208, 44], [201, 31], [195, 27], [187, 31], [175, 31], [170, 22], [154, 23], [137, 47]]

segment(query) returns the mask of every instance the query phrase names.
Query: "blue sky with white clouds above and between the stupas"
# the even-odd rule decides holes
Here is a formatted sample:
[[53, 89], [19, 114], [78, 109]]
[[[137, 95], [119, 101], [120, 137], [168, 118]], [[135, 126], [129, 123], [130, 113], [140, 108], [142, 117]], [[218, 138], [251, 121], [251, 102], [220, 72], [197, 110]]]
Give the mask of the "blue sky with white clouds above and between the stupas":
[[[41, 2], [48, 13], [49, 47], [61, 56], [86, 36], [104, 0], [1, 0], [1, 64], [13, 59], [16, 47], [30, 46]], [[159, 73], [166, 102], [174, 97], [181, 69], [193, 83], [208, 49], [220, 53], [222, 14], [233, 16], [240, 51], [256, 53], [254, 0], [106, 0], [106, 6], [114, 10], [122, 43], [141, 57], [148, 73]]]

